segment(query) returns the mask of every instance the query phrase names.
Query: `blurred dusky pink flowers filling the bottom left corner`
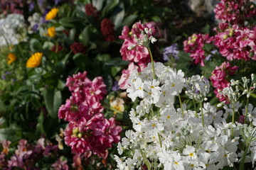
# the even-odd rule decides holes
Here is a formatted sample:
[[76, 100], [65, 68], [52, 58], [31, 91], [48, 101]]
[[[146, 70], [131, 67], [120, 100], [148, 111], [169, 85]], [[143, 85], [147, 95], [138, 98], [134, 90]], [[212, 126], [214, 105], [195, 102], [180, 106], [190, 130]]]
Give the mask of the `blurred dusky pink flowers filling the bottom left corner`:
[[11, 142], [1, 141], [0, 168], [1, 169], [38, 169], [36, 163], [43, 157], [56, 157], [58, 146], [40, 138], [36, 145], [31, 145], [27, 140], [19, 140], [17, 149], [13, 152]]

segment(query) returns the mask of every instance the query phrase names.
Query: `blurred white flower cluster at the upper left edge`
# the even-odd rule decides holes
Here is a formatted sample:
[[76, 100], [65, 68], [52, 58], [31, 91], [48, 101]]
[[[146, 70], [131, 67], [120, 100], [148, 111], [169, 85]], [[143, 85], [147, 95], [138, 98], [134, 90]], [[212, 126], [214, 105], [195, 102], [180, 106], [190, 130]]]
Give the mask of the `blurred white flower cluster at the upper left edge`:
[[23, 15], [11, 13], [6, 18], [0, 19], [0, 47], [16, 45], [25, 40], [26, 23]]

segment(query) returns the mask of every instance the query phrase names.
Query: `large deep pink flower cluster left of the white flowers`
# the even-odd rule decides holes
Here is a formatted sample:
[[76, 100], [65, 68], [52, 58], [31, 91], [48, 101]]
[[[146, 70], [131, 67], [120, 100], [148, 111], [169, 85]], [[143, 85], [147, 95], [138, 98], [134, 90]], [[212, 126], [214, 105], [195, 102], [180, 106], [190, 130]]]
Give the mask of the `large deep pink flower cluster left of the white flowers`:
[[100, 100], [107, 94], [106, 85], [102, 77], [91, 81], [83, 72], [68, 77], [66, 86], [72, 96], [58, 111], [59, 118], [70, 122], [64, 132], [65, 144], [76, 154], [92, 151], [100, 156], [119, 142], [122, 131], [114, 118], [107, 120], [101, 113]]

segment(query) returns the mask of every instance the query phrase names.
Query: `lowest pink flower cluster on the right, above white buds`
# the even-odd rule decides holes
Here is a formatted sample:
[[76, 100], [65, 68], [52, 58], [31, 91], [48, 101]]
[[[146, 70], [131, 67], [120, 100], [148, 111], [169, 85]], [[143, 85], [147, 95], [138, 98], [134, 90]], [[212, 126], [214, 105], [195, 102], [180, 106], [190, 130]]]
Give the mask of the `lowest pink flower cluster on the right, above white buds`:
[[226, 77], [232, 76], [238, 70], [238, 66], [231, 67], [229, 62], [223, 62], [220, 67], [215, 67], [210, 77], [210, 81], [213, 82], [214, 93], [220, 101], [225, 101], [225, 97], [218, 93], [218, 90], [222, 91], [225, 87], [230, 86], [230, 82]]

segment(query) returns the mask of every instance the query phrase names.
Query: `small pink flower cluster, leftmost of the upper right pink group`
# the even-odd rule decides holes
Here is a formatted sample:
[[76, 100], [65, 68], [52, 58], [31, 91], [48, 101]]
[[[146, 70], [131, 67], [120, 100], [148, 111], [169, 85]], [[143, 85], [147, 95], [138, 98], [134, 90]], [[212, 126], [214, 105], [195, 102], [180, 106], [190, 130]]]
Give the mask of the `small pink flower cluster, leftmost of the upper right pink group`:
[[206, 55], [203, 45], [210, 43], [212, 40], [213, 38], [208, 34], [193, 34], [191, 37], [188, 37], [188, 40], [183, 42], [183, 50], [191, 54], [195, 64], [200, 63], [201, 66], [204, 66], [203, 60], [206, 59]]

